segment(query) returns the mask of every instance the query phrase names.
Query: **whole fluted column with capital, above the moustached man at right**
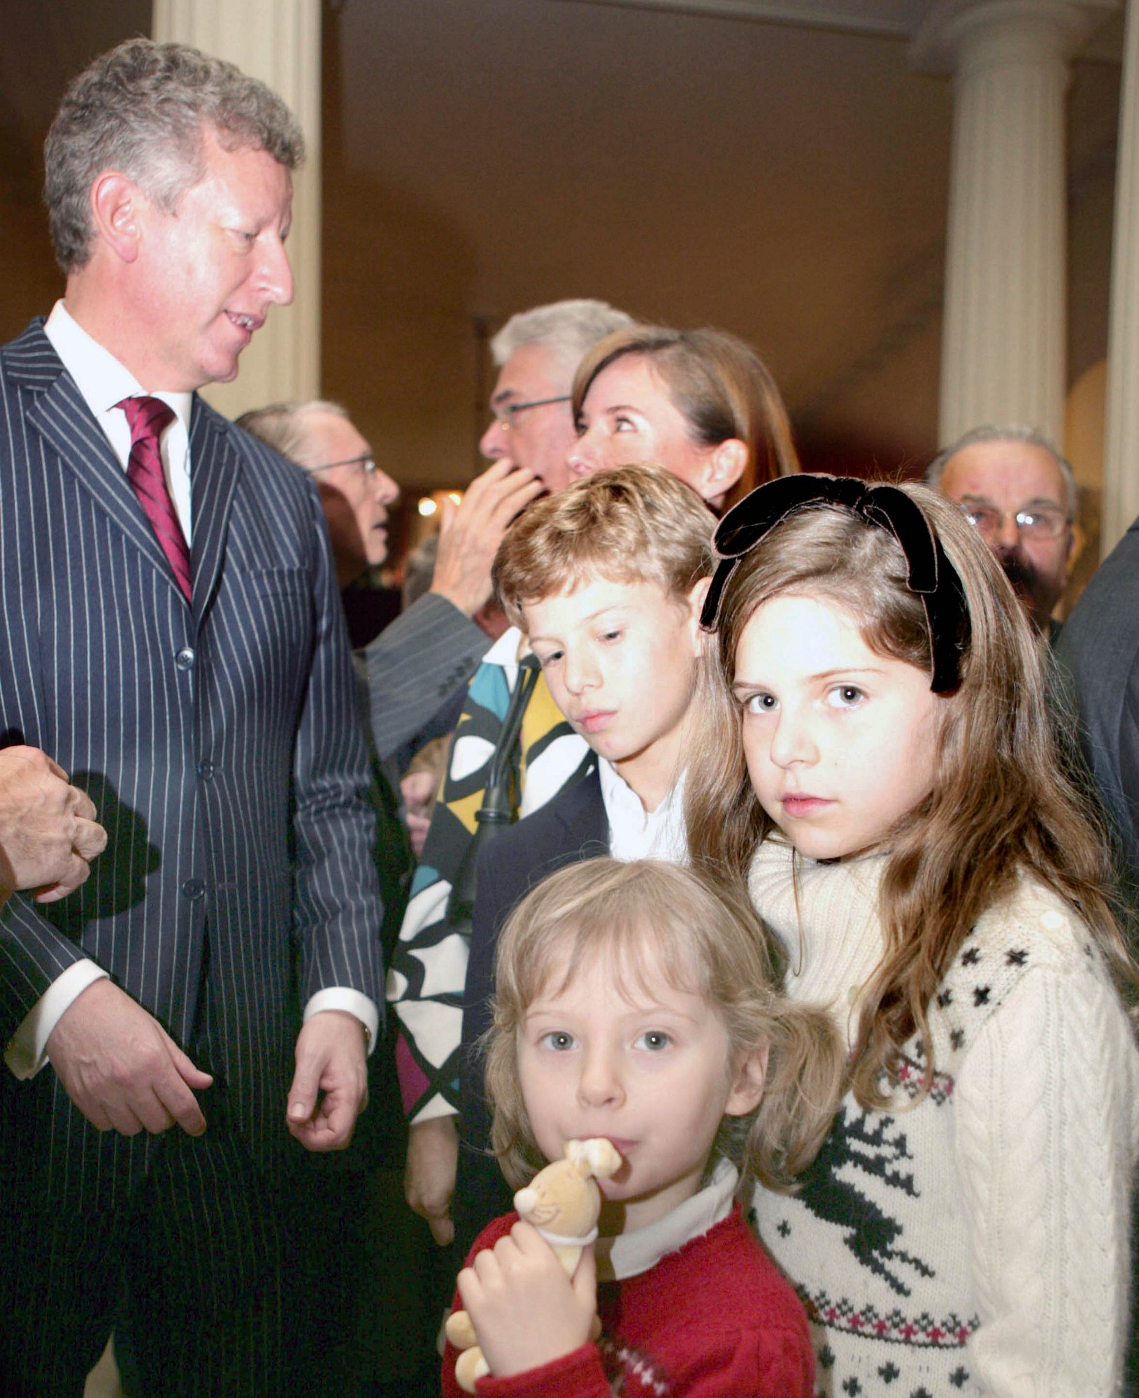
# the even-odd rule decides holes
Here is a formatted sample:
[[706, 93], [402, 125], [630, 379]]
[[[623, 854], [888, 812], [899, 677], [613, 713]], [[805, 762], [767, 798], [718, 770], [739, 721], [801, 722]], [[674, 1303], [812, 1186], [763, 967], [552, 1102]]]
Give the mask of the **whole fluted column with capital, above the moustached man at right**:
[[1027, 422], [1066, 387], [1068, 57], [1118, 0], [939, 0], [914, 41], [954, 74], [940, 440]]

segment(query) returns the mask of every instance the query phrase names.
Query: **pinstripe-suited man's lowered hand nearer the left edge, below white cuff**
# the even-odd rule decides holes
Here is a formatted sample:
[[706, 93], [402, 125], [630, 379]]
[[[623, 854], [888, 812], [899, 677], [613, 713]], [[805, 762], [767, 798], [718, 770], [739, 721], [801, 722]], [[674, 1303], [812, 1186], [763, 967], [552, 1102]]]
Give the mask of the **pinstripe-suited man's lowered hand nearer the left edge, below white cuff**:
[[63, 1011], [48, 1036], [48, 1058], [67, 1096], [99, 1131], [157, 1135], [175, 1124], [188, 1135], [206, 1130], [190, 1089], [214, 1079], [109, 980], [97, 980]]

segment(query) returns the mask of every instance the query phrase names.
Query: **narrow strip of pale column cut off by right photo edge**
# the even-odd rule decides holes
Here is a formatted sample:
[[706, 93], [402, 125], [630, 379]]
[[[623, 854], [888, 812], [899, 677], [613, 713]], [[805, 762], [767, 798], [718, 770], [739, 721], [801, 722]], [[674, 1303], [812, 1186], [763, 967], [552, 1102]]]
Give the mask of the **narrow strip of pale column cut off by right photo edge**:
[[1128, 6], [1118, 151], [1101, 558], [1107, 558], [1139, 516], [1139, 178], [1135, 169], [1139, 159], [1139, 0]]

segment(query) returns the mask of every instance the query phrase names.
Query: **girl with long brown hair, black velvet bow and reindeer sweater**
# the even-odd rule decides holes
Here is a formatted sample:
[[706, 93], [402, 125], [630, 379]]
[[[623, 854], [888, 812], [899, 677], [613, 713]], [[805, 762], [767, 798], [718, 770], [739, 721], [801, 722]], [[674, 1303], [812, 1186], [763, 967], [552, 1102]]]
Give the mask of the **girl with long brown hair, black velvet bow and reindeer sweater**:
[[800, 1192], [756, 1198], [821, 1390], [1115, 1392], [1135, 969], [1041, 650], [924, 487], [775, 481], [716, 549], [693, 857], [747, 878], [849, 1047]]

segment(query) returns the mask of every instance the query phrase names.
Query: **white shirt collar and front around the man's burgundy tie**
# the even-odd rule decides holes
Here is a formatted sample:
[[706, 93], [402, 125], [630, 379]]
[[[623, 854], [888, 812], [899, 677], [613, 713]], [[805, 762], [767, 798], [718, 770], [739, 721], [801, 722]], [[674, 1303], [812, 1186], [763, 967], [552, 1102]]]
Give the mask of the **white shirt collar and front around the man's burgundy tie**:
[[[123, 398], [146, 393], [146, 389], [109, 350], [91, 338], [62, 301], [52, 308], [43, 334], [63, 362], [63, 368], [76, 380], [76, 387], [102, 428], [119, 466], [126, 470], [130, 460], [130, 426], [118, 404]], [[192, 541], [189, 422], [193, 394], [155, 390], [151, 397], [161, 398], [175, 415], [175, 421], [162, 435], [162, 466], [178, 521], [189, 544]]]

